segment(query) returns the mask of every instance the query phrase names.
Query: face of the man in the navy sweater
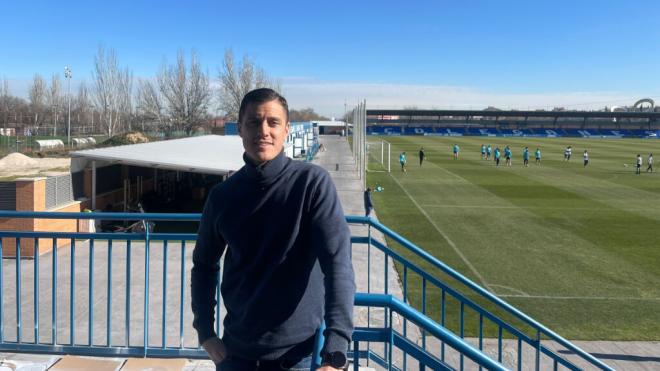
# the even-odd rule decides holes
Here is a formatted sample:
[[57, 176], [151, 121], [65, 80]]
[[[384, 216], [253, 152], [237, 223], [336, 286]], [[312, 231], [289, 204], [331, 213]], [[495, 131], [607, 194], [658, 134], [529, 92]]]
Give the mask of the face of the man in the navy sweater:
[[289, 135], [289, 121], [284, 107], [272, 100], [247, 106], [238, 133], [248, 157], [257, 164], [274, 159]]

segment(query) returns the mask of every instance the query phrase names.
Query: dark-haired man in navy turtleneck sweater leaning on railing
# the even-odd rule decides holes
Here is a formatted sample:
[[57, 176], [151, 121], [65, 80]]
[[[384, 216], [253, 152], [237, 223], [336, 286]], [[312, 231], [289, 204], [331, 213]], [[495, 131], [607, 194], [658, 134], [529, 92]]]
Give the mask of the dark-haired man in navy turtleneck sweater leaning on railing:
[[[271, 89], [243, 98], [238, 117], [245, 166], [209, 194], [193, 252], [193, 326], [218, 370], [309, 369], [325, 319], [322, 367], [345, 367], [355, 279], [350, 233], [322, 168], [283, 153], [286, 100]], [[214, 307], [220, 257], [227, 314]]]

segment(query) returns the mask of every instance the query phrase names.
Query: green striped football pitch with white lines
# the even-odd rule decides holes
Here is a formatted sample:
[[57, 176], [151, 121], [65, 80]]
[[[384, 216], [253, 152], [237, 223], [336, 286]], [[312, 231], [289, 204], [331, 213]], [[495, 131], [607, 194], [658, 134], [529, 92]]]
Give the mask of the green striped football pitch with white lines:
[[[373, 195], [383, 224], [562, 336], [660, 340], [660, 174], [645, 172], [648, 154], [660, 156], [660, 141], [367, 139], [367, 184], [384, 187]], [[390, 173], [380, 163], [380, 140], [391, 144]], [[481, 159], [482, 143], [509, 145], [512, 166], [504, 156], [500, 166]], [[564, 161], [569, 145], [573, 156]], [[420, 166], [422, 146], [427, 157]], [[419, 303], [419, 291], [409, 291], [412, 303]]]

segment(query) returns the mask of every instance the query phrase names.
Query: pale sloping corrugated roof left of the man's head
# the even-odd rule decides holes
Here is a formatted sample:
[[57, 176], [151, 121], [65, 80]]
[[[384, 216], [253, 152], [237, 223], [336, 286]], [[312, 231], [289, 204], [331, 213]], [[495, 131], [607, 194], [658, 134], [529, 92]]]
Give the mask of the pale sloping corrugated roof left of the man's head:
[[239, 136], [205, 135], [160, 142], [129, 144], [72, 152], [71, 171], [84, 169], [89, 161], [133, 166], [226, 174], [243, 165]]

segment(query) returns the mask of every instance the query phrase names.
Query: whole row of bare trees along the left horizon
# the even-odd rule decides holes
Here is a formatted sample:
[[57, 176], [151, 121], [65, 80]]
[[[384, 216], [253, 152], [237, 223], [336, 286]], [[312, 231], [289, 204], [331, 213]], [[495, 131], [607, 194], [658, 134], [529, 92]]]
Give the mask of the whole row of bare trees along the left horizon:
[[[114, 50], [99, 47], [91, 83], [80, 82], [77, 93], [71, 94], [72, 133], [103, 132], [112, 136], [136, 126], [143, 131], [191, 133], [208, 122], [213, 105], [224, 112], [227, 120], [236, 120], [240, 101], [248, 91], [257, 87], [281, 91], [278, 80], [247, 55], [237, 61], [231, 50], [225, 51], [217, 77], [219, 88], [213, 89], [211, 77], [202, 69], [195, 52], [186, 60], [179, 51], [176, 63], [163, 63], [154, 78], [137, 79], [136, 83], [130, 68], [119, 65]], [[66, 95], [58, 74], [50, 81], [35, 74], [28, 100], [12, 96], [8, 80], [0, 80], [0, 125], [4, 127], [18, 124], [17, 130], [29, 129], [33, 135], [63, 134], [66, 110]]]

